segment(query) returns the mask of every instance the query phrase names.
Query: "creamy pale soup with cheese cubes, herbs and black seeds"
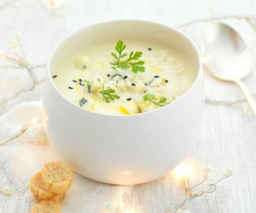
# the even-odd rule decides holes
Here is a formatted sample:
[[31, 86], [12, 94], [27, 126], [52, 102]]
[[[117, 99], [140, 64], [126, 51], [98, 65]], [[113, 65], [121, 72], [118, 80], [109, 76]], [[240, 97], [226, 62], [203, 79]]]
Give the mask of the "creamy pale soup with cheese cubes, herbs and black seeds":
[[147, 41], [116, 42], [67, 55], [52, 72], [58, 90], [87, 110], [129, 115], [175, 101], [196, 79], [194, 64], [176, 49]]

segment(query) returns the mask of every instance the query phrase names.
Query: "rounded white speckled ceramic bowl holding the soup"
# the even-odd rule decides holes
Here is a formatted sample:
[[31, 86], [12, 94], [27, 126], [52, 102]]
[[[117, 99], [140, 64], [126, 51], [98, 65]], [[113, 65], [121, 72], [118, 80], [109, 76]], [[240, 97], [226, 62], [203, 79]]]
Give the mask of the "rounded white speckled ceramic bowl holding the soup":
[[[66, 55], [92, 43], [125, 38], [147, 38], [183, 51], [198, 70], [195, 82], [171, 104], [136, 115], [88, 111], [58, 91], [51, 71]], [[198, 48], [183, 33], [161, 24], [120, 20], [82, 28], [58, 43], [47, 64], [43, 109], [48, 139], [64, 162], [93, 180], [137, 184], [168, 173], [198, 142], [203, 104]]]

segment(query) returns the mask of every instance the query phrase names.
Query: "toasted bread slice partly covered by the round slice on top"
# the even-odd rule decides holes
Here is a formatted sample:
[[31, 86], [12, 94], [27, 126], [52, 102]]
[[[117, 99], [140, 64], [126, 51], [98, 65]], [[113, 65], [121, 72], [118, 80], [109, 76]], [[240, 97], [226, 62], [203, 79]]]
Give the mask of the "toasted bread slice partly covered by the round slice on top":
[[56, 193], [47, 191], [42, 185], [42, 171], [36, 173], [30, 180], [30, 190], [33, 195], [38, 196], [39, 198], [49, 200], [57, 196]]

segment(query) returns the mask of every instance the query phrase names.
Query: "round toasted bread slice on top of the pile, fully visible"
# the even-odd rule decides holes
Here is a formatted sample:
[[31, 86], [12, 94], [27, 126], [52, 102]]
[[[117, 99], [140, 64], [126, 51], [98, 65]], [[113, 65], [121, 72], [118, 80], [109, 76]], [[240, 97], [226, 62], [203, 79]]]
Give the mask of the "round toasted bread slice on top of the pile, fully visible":
[[60, 161], [48, 162], [42, 169], [42, 185], [51, 192], [62, 193], [67, 191], [73, 178], [73, 170]]

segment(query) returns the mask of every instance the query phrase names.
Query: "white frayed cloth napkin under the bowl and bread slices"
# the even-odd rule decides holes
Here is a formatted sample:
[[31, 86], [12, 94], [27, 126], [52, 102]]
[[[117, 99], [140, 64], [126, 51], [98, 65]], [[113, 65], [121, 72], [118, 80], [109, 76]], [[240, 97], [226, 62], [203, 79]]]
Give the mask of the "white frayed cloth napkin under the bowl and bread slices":
[[[15, 135], [31, 116], [38, 123], [27, 129], [17, 139], [1, 146], [0, 165], [2, 171], [12, 180], [19, 192], [31, 204], [37, 203], [29, 188], [30, 179], [39, 172], [45, 163], [58, 160], [51, 150], [42, 122], [41, 102], [21, 104], [0, 117], [0, 138]], [[71, 187], [61, 201], [62, 212], [104, 212], [103, 204], [108, 199], [122, 204], [122, 195], [130, 192], [132, 186], [118, 186], [100, 183], [74, 172]]]

